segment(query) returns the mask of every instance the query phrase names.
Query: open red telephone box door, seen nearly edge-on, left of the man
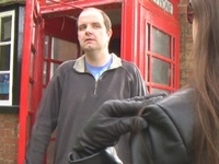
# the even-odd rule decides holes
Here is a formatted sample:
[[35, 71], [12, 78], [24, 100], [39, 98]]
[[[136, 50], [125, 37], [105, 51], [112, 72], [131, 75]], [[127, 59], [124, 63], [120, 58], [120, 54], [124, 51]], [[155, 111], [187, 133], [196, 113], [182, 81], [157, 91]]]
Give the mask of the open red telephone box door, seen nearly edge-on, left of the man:
[[[35, 25], [34, 25], [35, 24]], [[34, 39], [33, 39], [34, 35]], [[44, 34], [36, 0], [26, 1], [21, 71], [20, 133], [18, 163], [23, 164], [26, 143], [42, 96]], [[34, 95], [34, 96], [33, 96]]]

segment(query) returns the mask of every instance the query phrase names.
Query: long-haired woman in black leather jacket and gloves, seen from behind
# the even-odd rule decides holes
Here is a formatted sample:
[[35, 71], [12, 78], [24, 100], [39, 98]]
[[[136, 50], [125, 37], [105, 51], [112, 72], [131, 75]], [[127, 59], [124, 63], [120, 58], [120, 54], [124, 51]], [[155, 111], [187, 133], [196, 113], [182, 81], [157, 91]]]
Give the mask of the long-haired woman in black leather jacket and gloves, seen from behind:
[[131, 132], [134, 164], [219, 164], [219, 0], [191, 0], [187, 9], [194, 38], [189, 85], [162, 99], [106, 102], [81, 130], [69, 163], [122, 163], [107, 148]]

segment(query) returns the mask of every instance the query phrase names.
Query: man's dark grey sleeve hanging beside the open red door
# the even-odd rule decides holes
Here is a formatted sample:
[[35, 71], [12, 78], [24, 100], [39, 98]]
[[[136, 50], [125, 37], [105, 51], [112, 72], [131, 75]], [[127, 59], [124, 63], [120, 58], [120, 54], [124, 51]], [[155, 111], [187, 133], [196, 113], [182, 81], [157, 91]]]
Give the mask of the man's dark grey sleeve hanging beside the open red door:
[[55, 130], [61, 96], [59, 72], [47, 85], [37, 109], [36, 119], [27, 144], [25, 164], [43, 164], [44, 154]]

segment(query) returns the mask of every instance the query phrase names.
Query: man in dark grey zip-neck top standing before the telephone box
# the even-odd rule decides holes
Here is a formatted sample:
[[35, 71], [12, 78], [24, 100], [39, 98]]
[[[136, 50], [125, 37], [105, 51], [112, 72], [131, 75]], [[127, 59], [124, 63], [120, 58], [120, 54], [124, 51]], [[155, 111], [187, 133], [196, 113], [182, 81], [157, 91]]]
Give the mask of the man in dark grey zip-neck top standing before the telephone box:
[[[78, 132], [105, 101], [146, 94], [138, 68], [108, 52], [112, 33], [111, 21], [103, 11], [88, 8], [79, 15], [78, 39], [84, 55], [62, 63], [50, 80], [37, 110], [26, 164], [43, 164], [56, 128], [54, 163], [68, 163]], [[129, 156], [124, 145], [118, 145], [119, 152], [124, 153], [122, 156]]]

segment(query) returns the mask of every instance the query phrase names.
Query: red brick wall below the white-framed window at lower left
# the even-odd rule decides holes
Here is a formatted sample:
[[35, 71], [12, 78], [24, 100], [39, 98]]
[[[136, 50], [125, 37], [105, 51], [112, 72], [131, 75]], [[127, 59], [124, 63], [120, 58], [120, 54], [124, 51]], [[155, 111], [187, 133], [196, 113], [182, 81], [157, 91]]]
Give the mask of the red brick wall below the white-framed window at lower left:
[[18, 114], [0, 114], [0, 164], [16, 164]]

